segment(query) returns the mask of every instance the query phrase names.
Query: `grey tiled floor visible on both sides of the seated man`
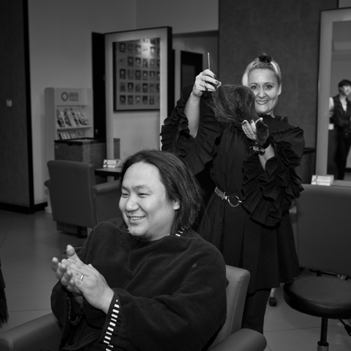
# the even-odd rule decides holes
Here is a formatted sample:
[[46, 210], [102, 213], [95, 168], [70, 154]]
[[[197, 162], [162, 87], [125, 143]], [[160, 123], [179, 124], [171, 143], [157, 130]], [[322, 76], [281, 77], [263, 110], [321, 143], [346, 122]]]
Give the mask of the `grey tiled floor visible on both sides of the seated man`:
[[[0, 211], [0, 258], [10, 314], [8, 325], [0, 333], [51, 312], [51, 289], [57, 282], [51, 258], [60, 257], [67, 244], [79, 245], [82, 240], [58, 232], [52, 216], [44, 211], [33, 215]], [[266, 351], [317, 350], [319, 318], [286, 305], [282, 287], [277, 289], [277, 300], [276, 307], [267, 306]], [[329, 321], [328, 341], [330, 351], [351, 350], [351, 337], [338, 321]]]

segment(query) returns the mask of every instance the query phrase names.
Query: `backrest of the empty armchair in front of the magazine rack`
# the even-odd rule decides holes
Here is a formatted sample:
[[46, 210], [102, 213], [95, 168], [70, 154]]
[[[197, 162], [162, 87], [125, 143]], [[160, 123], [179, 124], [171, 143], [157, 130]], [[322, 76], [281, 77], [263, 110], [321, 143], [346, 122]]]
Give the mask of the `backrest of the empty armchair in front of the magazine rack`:
[[91, 187], [95, 185], [93, 164], [79, 161], [48, 161], [50, 197], [54, 220], [79, 227], [96, 223]]

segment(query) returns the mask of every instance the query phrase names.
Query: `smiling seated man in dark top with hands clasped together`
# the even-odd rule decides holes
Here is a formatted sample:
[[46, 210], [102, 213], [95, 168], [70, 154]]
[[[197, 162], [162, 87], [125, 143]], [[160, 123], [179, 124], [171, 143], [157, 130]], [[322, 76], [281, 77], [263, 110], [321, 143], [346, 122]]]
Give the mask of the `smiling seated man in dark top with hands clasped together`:
[[[96, 225], [52, 267], [60, 350], [201, 350], [225, 321], [225, 263], [191, 227], [201, 190], [173, 154], [140, 151], [121, 171], [123, 218]], [[70, 345], [70, 347], [69, 347]]]

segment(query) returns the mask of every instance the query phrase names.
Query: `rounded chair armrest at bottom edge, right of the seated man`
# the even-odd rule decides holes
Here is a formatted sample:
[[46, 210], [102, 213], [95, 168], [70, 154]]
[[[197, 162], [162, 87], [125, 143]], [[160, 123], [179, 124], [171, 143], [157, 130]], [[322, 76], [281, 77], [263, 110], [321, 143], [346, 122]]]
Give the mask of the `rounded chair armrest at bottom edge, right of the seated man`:
[[240, 329], [225, 338], [217, 345], [211, 347], [211, 351], [264, 351], [267, 340], [263, 334], [251, 329]]

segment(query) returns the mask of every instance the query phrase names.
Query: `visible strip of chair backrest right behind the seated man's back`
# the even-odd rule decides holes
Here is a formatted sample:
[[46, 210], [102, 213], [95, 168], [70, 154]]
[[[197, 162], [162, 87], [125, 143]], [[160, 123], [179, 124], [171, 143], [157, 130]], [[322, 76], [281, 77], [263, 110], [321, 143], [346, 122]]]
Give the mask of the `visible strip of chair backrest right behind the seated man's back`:
[[[250, 281], [250, 272], [238, 267], [226, 265], [227, 279], [227, 317], [222, 328], [216, 334], [211, 347], [224, 340], [230, 334], [241, 329], [246, 292]], [[210, 347], [210, 348], [211, 348]]]

